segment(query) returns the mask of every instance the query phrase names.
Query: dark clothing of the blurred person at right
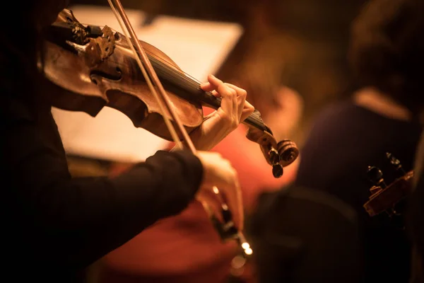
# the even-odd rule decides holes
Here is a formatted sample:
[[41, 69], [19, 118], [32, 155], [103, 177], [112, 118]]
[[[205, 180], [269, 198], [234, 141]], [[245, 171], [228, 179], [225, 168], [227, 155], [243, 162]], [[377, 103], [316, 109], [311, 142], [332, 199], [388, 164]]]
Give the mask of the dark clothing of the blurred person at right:
[[365, 282], [408, 282], [410, 245], [406, 233], [386, 214], [370, 217], [363, 204], [372, 186], [367, 166], [380, 168], [387, 184], [394, 180], [394, 174], [386, 152], [399, 158], [406, 171], [411, 170], [422, 129], [344, 101], [317, 117], [301, 151], [295, 184], [336, 195], [358, 213]]

